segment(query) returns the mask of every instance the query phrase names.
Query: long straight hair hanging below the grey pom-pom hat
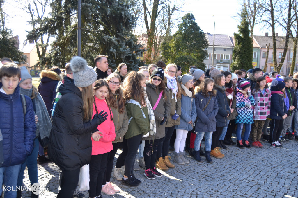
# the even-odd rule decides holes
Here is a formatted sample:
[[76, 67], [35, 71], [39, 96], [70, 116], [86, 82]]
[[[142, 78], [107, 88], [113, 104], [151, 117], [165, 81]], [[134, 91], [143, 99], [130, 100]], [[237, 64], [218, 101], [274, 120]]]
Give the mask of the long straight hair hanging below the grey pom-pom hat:
[[82, 99], [83, 99], [83, 111], [84, 120], [91, 120], [92, 117], [92, 104], [93, 104], [93, 90], [92, 84], [88, 87], [81, 87], [82, 89]]

